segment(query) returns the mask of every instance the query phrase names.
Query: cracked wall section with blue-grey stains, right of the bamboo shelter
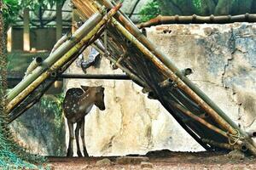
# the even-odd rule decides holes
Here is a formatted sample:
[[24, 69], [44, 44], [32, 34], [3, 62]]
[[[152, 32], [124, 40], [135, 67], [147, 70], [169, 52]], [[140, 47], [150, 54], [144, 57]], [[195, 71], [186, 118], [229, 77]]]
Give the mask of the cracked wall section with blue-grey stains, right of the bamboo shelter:
[[256, 25], [157, 26], [148, 38], [242, 128], [256, 128]]

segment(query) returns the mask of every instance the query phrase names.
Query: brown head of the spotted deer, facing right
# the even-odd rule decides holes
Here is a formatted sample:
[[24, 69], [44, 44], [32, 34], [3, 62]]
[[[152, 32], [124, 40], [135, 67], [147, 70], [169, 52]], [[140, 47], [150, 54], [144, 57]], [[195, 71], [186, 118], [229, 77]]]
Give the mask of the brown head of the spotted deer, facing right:
[[101, 110], [104, 111], [106, 109], [104, 103], [104, 90], [102, 86], [98, 87], [88, 87], [88, 86], [81, 86], [84, 89], [84, 92], [89, 90], [89, 94], [94, 96], [94, 103], [95, 105]]

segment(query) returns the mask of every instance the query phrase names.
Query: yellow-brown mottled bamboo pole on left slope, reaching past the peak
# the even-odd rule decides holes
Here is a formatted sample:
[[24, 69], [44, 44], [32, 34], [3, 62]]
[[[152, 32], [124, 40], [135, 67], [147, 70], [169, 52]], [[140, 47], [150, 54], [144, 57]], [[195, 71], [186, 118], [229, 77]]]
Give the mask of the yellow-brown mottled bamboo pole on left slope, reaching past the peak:
[[[61, 65], [64, 65], [68, 60], [70, 60], [73, 56], [73, 54], [78, 53], [79, 49], [83, 48], [83, 46], [88, 46], [90, 45], [90, 39], [91, 38], [95, 38], [97, 33], [99, 33], [99, 31], [102, 30], [103, 26], [106, 25], [106, 23], [108, 23], [108, 20], [111, 19], [111, 17], [113, 16], [113, 14], [115, 14], [119, 8], [121, 7], [120, 4], [118, 4], [116, 7], [113, 7], [107, 15], [105, 15], [102, 20], [96, 25], [93, 26], [94, 28], [88, 32], [88, 34], [80, 41], [78, 42], [73, 48], [71, 48], [67, 54], [63, 55], [61, 57], [61, 59], [57, 60], [54, 65], [50, 66], [49, 69], [47, 71], [44, 71], [44, 73], [39, 76], [38, 78], [36, 78], [36, 80], [34, 82], [32, 82], [27, 88], [25, 88], [22, 92], [20, 92], [20, 94], [18, 94], [15, 99], [12, 99], [9, 104], [7, 105], [7, 111], [10, 112], [12, 111], [16, 105], [19, 105], [20, 101], [22, 101], [23, 99], [26, 98], [26, 96], [30, 93], [32, 93], [32, 91], [38, 87], [38, 85], [40, 85], [42, 82], [44, 82], [44, 80], [46, 80], [51, 72], [56, 71], [57, 69], [59, 69], [61, 67]], [[91, 27], [91, 26], [90, 26]], [[100, 32], [102, 33], [102, 32]], [[99, 36], [99, 35], [97, 35]]]

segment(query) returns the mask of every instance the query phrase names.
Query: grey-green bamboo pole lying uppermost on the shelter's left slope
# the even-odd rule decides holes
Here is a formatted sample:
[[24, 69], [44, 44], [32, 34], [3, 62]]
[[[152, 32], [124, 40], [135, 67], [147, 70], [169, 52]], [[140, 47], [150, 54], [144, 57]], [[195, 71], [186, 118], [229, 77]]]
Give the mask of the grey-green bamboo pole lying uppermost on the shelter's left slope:
[[68, 52], [76, 43], [78, 43], [86, 34], [88, 34], [98, 22], [102, 20], [102, 14], [96, 13], [89, 20], [87, 20], [83, 26], [79, 28], [73, 34], [73, 37], [69, 41], [64, 42], [60, 48], [57, 48], [55, 52], [47, 59], [44, 60], [41, 66], [37, 67], [32, 74], [28, 75], [22, 82], [20, 82], [15, 88], [13, 88], [7, 97], [8, 101], [14, 99], [18, 94], [27, 88], [37, 77], [39, 77], [49, 66], [53, 65], [56, 60], [60, 59], [64, 54]]

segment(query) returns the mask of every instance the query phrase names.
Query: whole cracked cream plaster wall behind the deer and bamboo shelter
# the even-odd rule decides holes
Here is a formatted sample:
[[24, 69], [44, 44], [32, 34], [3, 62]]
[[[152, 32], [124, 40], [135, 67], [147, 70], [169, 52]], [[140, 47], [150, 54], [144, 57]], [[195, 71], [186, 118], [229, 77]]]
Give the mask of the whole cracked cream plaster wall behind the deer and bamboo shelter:
[[[189, 78], [228, 116], [246, 130], [255, 129], [256, 25], [156, 26], [148, 28], [147, 33], [178, 68], [195, 71]], [[121, 73], [113, 71], [106, 59], [102, 59], [100, 68], [87, 71]], [[82, 73], [76, 65], [69, 72]], [[106, 111], [94, 107], [86, 116], [85, 140], [90, 156], [203, 150], [158, 101], [148, 99], [135, 83], [68, 80], [67, 88], [80, 84], [106, 88]]]

